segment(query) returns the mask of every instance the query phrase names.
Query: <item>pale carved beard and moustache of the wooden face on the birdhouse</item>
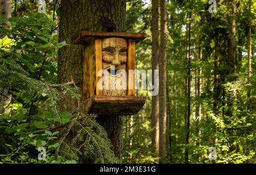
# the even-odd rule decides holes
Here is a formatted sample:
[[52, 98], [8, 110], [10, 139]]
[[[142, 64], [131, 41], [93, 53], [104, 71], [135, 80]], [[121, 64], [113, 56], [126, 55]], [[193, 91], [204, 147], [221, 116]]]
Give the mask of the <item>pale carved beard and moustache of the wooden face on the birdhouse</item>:
[[[111, 65], [105, 65], [104, 70], [110, 70]], [[115, 70], [123, 70], [126, 72], [126, 65], [116, 66]], [[127, 76], [126, 74], [119, 73], [112, 75], [109, 71], [108, 76], [103, 76], [103, 95], [111, 96], [126, 96], [127, 90]], [[111, 78], [110, 78], [111, 77]]]

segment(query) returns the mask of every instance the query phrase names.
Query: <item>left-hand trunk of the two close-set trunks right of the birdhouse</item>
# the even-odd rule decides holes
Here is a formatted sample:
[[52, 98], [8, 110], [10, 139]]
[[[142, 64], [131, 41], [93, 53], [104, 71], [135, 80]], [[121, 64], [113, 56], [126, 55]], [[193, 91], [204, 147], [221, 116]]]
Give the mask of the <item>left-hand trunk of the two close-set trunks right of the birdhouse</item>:
[[[159, 70], [158, 54], [159, 54], [159, 32], [158, 32], [158, 0], [152, 0], [152, 73]], [[159, 157], [159, 95], [152, 96], [152, 145], [155, 150], [156, 157]]]

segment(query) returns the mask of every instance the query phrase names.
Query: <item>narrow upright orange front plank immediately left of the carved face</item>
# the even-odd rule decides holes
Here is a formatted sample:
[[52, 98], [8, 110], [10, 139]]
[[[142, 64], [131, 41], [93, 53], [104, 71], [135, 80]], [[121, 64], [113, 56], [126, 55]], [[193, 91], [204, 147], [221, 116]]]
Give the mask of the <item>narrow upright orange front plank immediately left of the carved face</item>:
[[102, 75], [98, 75], [98, 71], [102, 70], [102, 40], [95, 39], [95, 65], [96, 65], [96, 95], [103, 95], [103, 89], [99, 89], [97, 86], [98, 80], [102, 78]]

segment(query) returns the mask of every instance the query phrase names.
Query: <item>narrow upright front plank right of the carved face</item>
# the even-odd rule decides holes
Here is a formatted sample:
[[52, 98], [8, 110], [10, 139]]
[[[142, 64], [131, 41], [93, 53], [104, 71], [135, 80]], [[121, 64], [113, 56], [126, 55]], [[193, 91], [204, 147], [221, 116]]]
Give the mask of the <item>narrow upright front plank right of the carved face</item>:
[[[127, 96], [135, 96], [135, 74], [129, 75], [129, 70], [135, 70], [135, 41], [128, 41], [127, 54]], [[133, 84], [131, 85], [131, 83]], [[132, 86], [133, 88], [131, 88]]]

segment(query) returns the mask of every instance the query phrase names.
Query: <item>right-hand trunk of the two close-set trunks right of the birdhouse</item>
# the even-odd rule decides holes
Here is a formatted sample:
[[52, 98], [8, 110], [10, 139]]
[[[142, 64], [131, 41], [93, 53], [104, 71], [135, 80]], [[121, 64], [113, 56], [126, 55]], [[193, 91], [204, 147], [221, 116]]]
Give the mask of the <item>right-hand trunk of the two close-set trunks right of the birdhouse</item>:
[[166, 43], [167, 43], [167, 13], [166, 0], [160, 1], [160, 49], [159, 49], [159, 156], [166, 156]]

